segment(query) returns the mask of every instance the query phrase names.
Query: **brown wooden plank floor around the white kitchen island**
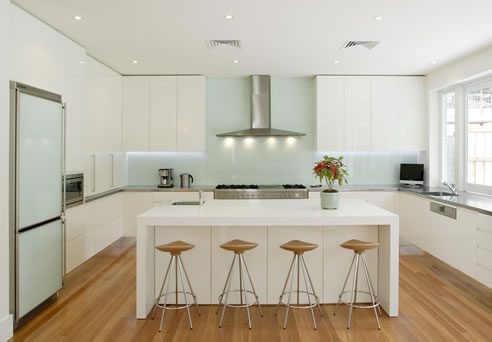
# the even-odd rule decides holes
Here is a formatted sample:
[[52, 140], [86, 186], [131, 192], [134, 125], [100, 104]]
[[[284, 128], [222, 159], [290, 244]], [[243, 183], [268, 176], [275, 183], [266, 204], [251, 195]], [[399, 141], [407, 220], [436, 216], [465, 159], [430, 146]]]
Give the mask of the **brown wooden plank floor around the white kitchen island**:
[[[13, 341], [492, 341], [492, 290], [416, 247], [400, 247], [400, 316], [382, 318], [356, 310], [347, 330], [348, 309], [333, 316], [333, 305], [313, 330], [306, 310], [293, 310], [286, 330], [283, 311], [252, 310], [253, 329], [244, 309], [228, 310], [218, 328], [215, 306], [168, 312], [159, 320], [135, 319], [135, 240], [123, 238], [67, 276], [59, 299], [15, 331]], [[319, 317], [319, 316], [318, 316]]]

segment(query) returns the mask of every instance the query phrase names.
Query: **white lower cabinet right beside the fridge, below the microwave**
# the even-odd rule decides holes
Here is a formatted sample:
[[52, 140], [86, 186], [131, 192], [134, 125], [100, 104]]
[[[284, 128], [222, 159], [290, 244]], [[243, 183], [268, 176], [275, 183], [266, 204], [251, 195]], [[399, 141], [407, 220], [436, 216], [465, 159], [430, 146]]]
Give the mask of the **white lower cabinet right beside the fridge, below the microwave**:
[[123, 194], [117, 193], [67, 209], [67, 272], [123, 235], [123, 199]]

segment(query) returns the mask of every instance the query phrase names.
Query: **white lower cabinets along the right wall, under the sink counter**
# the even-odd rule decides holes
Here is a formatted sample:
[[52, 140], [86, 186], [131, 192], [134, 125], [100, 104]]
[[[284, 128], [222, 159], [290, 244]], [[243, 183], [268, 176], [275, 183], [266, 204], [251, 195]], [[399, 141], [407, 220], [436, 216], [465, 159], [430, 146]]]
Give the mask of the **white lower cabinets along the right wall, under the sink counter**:
[[400, 236], [492, 287], [492, 217], [457, 208], [452, 219], [431, 212], [431, 202], [400, 194]]

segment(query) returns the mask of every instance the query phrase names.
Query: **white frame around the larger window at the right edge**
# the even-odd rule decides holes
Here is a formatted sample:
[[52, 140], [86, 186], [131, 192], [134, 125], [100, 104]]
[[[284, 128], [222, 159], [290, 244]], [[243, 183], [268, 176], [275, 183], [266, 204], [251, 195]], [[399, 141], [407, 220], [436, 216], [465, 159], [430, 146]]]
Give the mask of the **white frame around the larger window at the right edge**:
[[463, 139], [463, 155], [464, 155], [464, 172], [463, 185], [464, 190], [468, 192], [476, 192], [485, 195], [492, 195], [492, 186], [484, 184], [468, 183], [468, 94], [472, 91], [492, 88], [492, 78], [482, 79], [473, 83], [464, 85], [463, 101], [464, 101], [464, 139]]

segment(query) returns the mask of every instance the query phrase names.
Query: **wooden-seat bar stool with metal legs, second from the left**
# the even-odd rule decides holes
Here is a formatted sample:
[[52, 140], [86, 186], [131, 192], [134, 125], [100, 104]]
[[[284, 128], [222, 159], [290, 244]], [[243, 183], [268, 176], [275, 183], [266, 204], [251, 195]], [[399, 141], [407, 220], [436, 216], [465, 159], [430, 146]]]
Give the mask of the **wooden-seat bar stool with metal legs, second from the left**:
[[[219, 296], [219, 305], [217, 306], [216, 314], [219, 313], [220, 305], [222, 304], [222, 299], [224, 298], [224, 295], [225, 295], [224, 305], [222, 307], [222, 314], [220, 317], [219, 328], [222, 328], [222, 321], [224, 320], [225, 308], [227, 306], [233, 307], [233, 308], [246, 308], [246, 310], [248, 312], [248, 324], [249, 324], [250, 329], [251, 329], [251, 317], [250, 317], [250, 313], [249, 313], [249, 307], [250, 306], [255, 305], [255, 304], [258, 305], [258, 309], [260, 310], [261, 317], [263, 317], [263, 311], [261, 310], [261, 305], [260, 305], [260, 302], [258, 301], [258, 295], [256, 294], [256, 290], [255, 290], [255, 287], [253, 285], [253, 280], [251, 279], [251, 276], [250, 276], [249, 270], [248, 270], [248, 266], [246, 265], [246, 260], [244, 259], [244, 252], [247, 250], [256, 248], [257, 246], [258, 246], [257, 243], [247, 242], [247, 241], [243, 241], [243, 240], [232, 240], [232, 241], [229, 241], [227, 243], [220, 245], [221, 248], [234, 252], [234, 259], [232, 259], [231, 268], [229, 269], [229, 274], [227, 275], [224, 289], [222, 290], [222, 293]], [[234, 265], [236, 263], [236, 260], [238, 261], [238, 268], [239, 268], [239, 290], [231, 290], [232, 274], [234, 272]], [[246, 274], [248, 275], [249, 283], [251, 284], [251, 290], [248, 290], [246, 288], [246, 282], [244, 281], [244, 271], [246, 271]], [[226, 288], [227, 288], [227, 291], [226, 291]], [[241, 298], [240, 304], [228, 304], [227, 303], [230, 292], [239, 292], [239, 297]], [[255, 297], [254, 302], [248, 303], [248, 298], [247, 298], [248, 293], [254, 295], [254, 297]], [[244, 304], [243, 304], [243, 294], [244, 294]]]

